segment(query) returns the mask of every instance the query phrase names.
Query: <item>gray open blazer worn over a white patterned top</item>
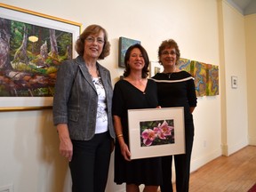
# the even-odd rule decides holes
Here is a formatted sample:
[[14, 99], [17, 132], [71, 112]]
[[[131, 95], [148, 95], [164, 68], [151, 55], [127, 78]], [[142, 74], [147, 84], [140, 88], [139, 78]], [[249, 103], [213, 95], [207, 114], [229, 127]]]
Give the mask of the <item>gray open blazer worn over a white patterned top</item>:
[[[97, 62], [107, 98], [108, 131], [112, 138], [115, 132], [112, 120], [113, 89], [110, 73]], [[64, 61], [57, 74], [53, 97], [53, 123], [68, 124], [71, 140], [91, 140], [96, 125], [98, 94], [92, 77], [85, 66], [84, 58]]]

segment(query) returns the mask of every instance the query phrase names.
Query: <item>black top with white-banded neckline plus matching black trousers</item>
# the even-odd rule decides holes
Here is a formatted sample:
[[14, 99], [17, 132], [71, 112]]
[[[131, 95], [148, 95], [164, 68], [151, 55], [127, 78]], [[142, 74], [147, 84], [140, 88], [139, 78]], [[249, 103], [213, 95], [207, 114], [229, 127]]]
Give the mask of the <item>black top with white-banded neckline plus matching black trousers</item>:
[[[190, 159], [194, 140], [193, 116], [190, 107], [196, 107], [194, 78], [186, 71], [157, 73], [152, 77], [157, 84], [158, 101], [162, 108], [184, 107], [186, 154], [175, 155], [176, 189], [187, 192]], [[172, 156], [162, 158], [164, 184], [161, 192], [172, 192]]]

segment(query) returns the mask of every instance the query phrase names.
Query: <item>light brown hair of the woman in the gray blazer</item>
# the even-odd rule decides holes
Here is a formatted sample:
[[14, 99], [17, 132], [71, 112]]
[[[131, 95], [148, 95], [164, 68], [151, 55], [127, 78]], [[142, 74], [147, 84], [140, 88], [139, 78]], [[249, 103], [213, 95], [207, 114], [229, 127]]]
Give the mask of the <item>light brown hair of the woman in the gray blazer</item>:
[[104, 60], [110, 53], [110, 44], [108, 42], [108, 33], [105, 28], [100, 27], [99, 25], [90, 25], [84, 29], [83, 33], [76, 40], [76, 52], [78, 55], [84, 55], [84, 40], [91, 35], [98, 35], [102, 31], [104, 33], [104, 45], [103, 50], [100, 53], [99, 60]]

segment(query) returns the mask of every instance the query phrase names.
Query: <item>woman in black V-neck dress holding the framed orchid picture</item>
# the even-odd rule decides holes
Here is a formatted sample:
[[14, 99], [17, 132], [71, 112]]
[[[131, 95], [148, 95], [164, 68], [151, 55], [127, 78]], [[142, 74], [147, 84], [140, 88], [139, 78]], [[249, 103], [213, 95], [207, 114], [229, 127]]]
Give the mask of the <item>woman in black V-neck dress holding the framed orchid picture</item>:
[[151, 157], [131, 160], [128, 138], [127, 110], [156, 108], [156, 83], [148, 79], [148, 53], [140, 44], [129, 47], [125, 57], [124, 79], [115, 84], [113, 116], [116, 130], [115, 182], [126, 183], [127, 192], [156, 192], [162, 184], [161, 158]]

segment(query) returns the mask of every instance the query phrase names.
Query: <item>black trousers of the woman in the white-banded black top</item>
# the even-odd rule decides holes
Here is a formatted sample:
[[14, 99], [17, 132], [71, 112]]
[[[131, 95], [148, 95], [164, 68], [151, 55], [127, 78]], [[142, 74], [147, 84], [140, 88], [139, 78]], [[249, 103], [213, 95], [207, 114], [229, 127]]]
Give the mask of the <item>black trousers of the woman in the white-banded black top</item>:
[[[187, 127], [188, 129], [188, 127]], [[186, 154], [175, 155], [176, 191], [188, 192], [190, 176], [190, 159], [194, 140], [194, 125], [186, 129]], [[162, 157], [163, 185], [161, 192], [172, 192], [172, 156]]]

